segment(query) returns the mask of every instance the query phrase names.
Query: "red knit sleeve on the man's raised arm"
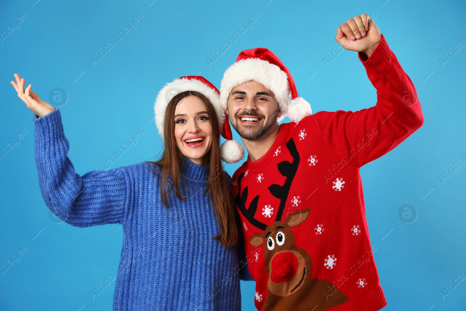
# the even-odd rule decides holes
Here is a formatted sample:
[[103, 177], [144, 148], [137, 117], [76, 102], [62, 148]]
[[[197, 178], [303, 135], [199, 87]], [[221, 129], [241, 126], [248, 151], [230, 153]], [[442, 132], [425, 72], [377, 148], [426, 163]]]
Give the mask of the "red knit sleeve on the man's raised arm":
[[319, 111], [314, 115], [329, 148], [355, 167], [383, 156], [424, 124], [416, 89], [384, 35], [369, 58], [361, 52], [358, 57], [377, 89], [377, 104], [355, 112]]

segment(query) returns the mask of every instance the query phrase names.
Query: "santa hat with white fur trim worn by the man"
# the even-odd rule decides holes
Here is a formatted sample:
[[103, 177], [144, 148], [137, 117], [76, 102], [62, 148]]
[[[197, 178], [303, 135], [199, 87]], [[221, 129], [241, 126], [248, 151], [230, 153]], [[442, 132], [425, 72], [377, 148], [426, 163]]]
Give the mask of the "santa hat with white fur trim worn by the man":
[[220, 84], [220, 104], [223, 110], [227, 109], [228, 97], [233, 88], [251, 80], [274, 93], [281, 111], [278, 121], [288, 116], [297, 123], [312, 114], [311, 105], [304, 98], [298, 97], [298, 90], [289, 70], [267, 48], [242, 51], [236, 62], [226, 69]]

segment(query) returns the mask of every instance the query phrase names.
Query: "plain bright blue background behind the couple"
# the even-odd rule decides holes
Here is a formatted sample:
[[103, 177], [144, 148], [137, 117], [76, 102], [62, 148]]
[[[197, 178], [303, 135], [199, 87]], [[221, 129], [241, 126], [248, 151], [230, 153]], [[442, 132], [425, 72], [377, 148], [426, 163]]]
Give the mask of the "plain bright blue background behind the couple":
[[[466, 280], [443, 299], [440, 291], [466, 277], [466, 164], [443, 183], [439, 177], [466, 160], [466, 48], [443, 66], [439, 61], [459, 41], [466, 44], [465, 2], [269, 1], [2, 1], [1, 32], [22, 12], [27, 18], [0, 43], [0, 149], [22, 129], [27, 134], [0, 160], [0, 265], [23, 245], [27, 251], [0, 276], [1, 310], [111, 310], [115, 282], [94, 300], [89, 292], [116, 276], [123, 242], [119, 225], [75, 228], [51, 217], [34, 162], [34, 113], [10, 85], [14, 73], [61, 106], [68, 156], [82, 175], [107, 163], [140, 128], [137, 145], [112, 168], [157, 159], [162, 146], [153, 103], [164, 83], [200, 74], [219, 88], [243, 49], [267, 47], [278, 55], [313, 112], [375, 105], [376, 90], [356, 52], [344, 50], [327, 66], [323, 61], [339, 46], [336, 26], [363, 13], [411, 77], [425, 117], [418, 131], [361, 169], [384, 310], [465, 310]], [[144, 17], [137, 28], [93, 66], [94, 53], [115, 42], [112, 36], [138, 12]], [[229, 35], [255, 12], [253, 28], [233, 42]], [[225, 41], [232, 46], [209, 66], [206, 58]], [[49, 100], [57, 87], [66, 104]], [[229, 165], [228, 173], [237, 167]], [[414, 207], [415, 221], [398, 217], [404, 204]], [[241, 282], [243, 310], [255, 310], [254, 287]]]

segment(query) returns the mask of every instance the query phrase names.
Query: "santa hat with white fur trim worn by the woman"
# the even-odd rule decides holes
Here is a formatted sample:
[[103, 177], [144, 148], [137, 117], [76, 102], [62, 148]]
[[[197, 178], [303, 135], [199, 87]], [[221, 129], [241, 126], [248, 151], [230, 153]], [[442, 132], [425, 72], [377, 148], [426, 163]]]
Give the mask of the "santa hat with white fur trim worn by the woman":
[[171, 99], [184, 91], [197, 91], [206, 96], [212, 103], [217, 114], [220, 134], [227, 139], [220, 146], [220, 156], [226, 163], [236, 163], [244, 158], [244, 148], [236, 140], [233, 140], [228, 116], [220, 106], [219, 90], [206, 78], [202, 76], [182, 76], [167, 83], [162, 90], [158, 92], [154, 104], [155, 124], [157, 125], [158, 133], [164, 140], [164, 120], [165, 111]]

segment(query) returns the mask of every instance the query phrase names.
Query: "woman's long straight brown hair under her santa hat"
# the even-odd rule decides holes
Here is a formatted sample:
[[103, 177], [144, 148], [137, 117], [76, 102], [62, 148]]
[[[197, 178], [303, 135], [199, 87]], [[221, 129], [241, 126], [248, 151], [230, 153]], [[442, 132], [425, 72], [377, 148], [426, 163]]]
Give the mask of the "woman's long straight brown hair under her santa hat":
[[[212, 237], [216, 241], [220, 241], [225, 247], [234, 245], [238, 242], [238, 228], [236, 227], [233, 198], [231, 189], [226, 179], [226, 174], [223, 172], [222, 162], [220, 159], [220, 129], [217, 119], [217, 113], [213, 108], [212, 103], [203, 94], [196, 91], [185, 91], [177, 94], [168, 103], [165, 110], [164, 118], [164, 152], [158, 161], [144, 161], [151, 169], [149, 163], [158, 165], [162, 173], [160, 182], [160, 196], [162, 202], [168, 207], [168, 198], [173, 189], [179, 200], [186, 198], [180, 192], [180, 172], [183, 171], [183, 156], [176, 146], [175, 140], [175, 109], [178, 102], [187, 96], [197, 96], [206, 104], [207, 112], [209, 113], [212, 122], [212, 149], [208, 152], [209, 158], [209, 181], [206, 191], [210, 195], [213, 210], [219, 222], [220, 232]], [[152, 171], [152, 169], [151, 169]], [[155, 173], [154, 171], [152, 171]], [[156, 173], [157, 174], [157, 173]], [[167, 191], [167, 184], [171, 179], [170, 189]]]

